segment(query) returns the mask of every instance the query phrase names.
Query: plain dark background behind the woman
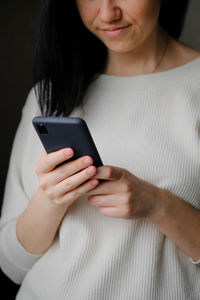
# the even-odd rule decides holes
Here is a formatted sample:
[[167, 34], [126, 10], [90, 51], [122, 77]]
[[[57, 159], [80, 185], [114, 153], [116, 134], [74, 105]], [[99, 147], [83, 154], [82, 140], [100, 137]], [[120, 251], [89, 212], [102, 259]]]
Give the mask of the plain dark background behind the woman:
[[[32, 87], [32, 63], [39, 3], [39, 0], [0, 2], [0, 205], [14, 134], [21, 117], [21, 109]], [[196, 49], [200, 49], [199, 17], [200, 1], [192, 0], [181, 40]], [[1, 271], [0, 286], [1, 292], [5, 289], [4, 300], [15, 299], [18, 286]]]

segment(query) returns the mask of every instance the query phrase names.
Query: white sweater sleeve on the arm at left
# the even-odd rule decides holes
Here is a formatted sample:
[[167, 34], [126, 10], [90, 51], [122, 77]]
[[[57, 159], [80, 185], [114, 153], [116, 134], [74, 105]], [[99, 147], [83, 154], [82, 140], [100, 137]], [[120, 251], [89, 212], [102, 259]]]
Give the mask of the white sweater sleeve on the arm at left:
[[28, 253], [16, 236], [16, 221], [30, 201], [22, 183], [22, 165], [31, 120], [37, 111], [39, 107], [32, 89], [22, 109], [12, 146], [0, 218], [0, 267], [17, 284], [21, 284], [27, 271], [41, 256]]

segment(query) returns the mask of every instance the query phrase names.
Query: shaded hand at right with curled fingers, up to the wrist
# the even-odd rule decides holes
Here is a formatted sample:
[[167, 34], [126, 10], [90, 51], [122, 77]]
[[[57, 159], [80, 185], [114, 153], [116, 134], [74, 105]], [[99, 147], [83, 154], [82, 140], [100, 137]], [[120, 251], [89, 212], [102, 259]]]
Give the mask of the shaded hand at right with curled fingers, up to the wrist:
[[150, 218], [161, 203], [163, 190], [115, 166], [102, 166], [91, 179], [104, 179], [87, 192], [90, 204], [104, 216], [134, 219]]

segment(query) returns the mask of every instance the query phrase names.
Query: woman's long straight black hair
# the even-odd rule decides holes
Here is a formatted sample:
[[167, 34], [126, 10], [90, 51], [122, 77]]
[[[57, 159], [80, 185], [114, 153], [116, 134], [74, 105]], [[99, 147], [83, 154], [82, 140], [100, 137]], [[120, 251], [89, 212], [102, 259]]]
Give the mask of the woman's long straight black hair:
[[[178, 39], [189, 0], [161, 0], [159, 22]], [[106, 46], [83, 24], [75, 0], [42, 0], [33, 83], [45, 116], [69, 116], [107, 62]]]

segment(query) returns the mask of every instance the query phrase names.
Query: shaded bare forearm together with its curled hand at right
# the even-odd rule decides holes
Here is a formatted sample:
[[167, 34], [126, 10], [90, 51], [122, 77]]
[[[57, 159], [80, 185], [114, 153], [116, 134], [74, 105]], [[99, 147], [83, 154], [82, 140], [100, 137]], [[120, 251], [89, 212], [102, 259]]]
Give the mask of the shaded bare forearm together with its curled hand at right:
[[125, 219], [143, 217], [180, 247], [192, 263], [200, 259], [198, 209], [126, 169], [99, 167], [93, 178], [108, 180], [87, 193], [89, 203], [99, 206], [103, 215]]

